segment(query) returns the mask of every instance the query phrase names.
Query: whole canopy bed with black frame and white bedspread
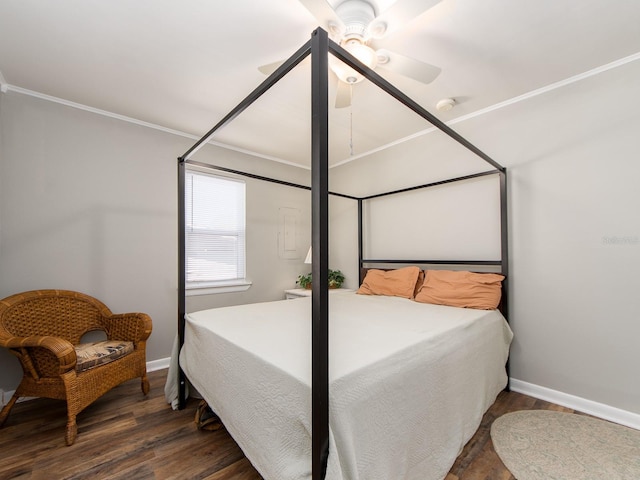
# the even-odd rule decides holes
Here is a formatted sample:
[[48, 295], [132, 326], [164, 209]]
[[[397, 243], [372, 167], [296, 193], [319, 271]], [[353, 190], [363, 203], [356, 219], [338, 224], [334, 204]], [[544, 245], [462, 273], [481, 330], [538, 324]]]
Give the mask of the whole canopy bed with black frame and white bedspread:
[[[329, 54], [480, 157], [491, 169], [366, 197], [330, 192]], [[216, 131], [307, 56], [311, 57], [311, 187], [191, 159]], [[311, 191], [314, 278], [311, 298], [187, 314], [184, 218], [187, 164]], [[490, 175], [499, 176], [499, 259], [364, 257], [363, 208], [367, 201]], [[180, 407], [185, 405], [188, 377], [267, 480], [321, 480], [325, 475], [332, 480], [410, 479], [427, 478], [424, 475], [427, 471], [435, 475], [428, 478], [443, 478], [477, 429], [482, 414], [507, 384], [505, 362], [511, 331], [495, 306], [476, 310], [419, 303], [413, 300], [413, 286], [411, 295], [404, 298], [393, 294], [340, 293], [332, 295], [330, 302], [328, 198], [338, 195], [357, 202], [360, 283], [370, 278], [367, 267], [489, 268], [504, 278], [500, 310], [506, 315], [506, 169], [359, 63], [329, 40], [324, 30], [317, 29], [309, 42], [178, 159], [178, 181], [178, 343], [184, 369], [178, 369]], [[412, 281], [416, 283], [415, 278]], [[310, 322], [305, 322], [309, 311]], [[286, 332], [286, 336], [276, 337], [274, 331]], [[356, 348], [356, 344], [362, 345]], [[197, 368], [204, 364], [207, 368]], [[435, 405], [440, 405], [439, 412], [433, 411]], [[303, 465], [309, 456], [310, 471]]]

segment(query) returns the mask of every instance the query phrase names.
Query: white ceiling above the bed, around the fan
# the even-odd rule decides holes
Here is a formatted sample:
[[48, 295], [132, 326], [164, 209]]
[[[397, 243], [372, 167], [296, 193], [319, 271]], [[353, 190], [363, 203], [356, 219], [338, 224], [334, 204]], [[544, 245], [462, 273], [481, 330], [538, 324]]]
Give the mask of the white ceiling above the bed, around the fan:
[[[0, 83], [200, 137], [317, 26], [298, 0], [0, 0]], [[451, 121], [637, 54], [640, 1], [443, 0], [379, 45], [442, 68], [429, 85], [388, 78]], [[308, 70], [214, 140], [307, 166]], [[437, 112], [445, 97], [456, 107]], [[370, 84], [352, 105], [331, 110], [334, 165], [355, 158], [350, 138], [357, 157], [429, 127]]]

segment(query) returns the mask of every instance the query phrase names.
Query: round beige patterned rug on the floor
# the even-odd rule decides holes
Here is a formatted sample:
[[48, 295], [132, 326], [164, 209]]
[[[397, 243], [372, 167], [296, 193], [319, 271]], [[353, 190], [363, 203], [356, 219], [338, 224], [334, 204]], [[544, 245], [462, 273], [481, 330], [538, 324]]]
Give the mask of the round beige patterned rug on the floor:
[[491, 440], [517, 480], [638, 480], [640, 431], [549, 410], [507, 413]]

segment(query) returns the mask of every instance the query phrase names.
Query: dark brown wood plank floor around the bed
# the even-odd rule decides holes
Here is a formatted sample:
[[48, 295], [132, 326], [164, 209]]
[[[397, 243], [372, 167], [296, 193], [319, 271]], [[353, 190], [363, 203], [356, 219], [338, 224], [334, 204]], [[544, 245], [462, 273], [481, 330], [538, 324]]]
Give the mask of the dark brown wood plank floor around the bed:
[[[164, 400], [166, 370], [149, 375], [145, 398], [138, 381], [104, 395], [78, 416], [78, 438], [65, 446], [63, 402], [16, 404], [0, 430], [0, 479], [261, 480], [226, 430], [196, 429], [197, 401], [173, 411]], [[502, 392], [445, 480], [513, 480], [495, 454], [489, 430], [503, 413], [571, 411], [514, 392]]]

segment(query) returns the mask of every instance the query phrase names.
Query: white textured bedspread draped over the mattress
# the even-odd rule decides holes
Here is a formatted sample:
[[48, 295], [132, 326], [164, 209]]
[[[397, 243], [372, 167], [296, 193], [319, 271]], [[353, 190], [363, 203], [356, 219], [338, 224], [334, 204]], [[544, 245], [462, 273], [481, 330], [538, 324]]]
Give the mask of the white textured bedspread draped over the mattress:
[[[497, 311], [332, 294], [328, 480], [441, 480], [507, 382]], [[187, 315], [180, 364], [265, 480], [311, 478], [310, 298]]]

